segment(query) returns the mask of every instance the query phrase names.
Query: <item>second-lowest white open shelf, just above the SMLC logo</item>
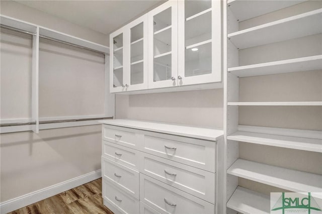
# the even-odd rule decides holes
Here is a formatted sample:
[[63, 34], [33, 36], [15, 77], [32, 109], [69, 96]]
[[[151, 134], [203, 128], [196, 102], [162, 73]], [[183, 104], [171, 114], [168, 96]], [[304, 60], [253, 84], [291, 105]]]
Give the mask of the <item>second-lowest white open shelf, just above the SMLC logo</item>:
[[294, 192], [312, 192], [312, 196], [322, 189], [322, 175], [243, 159], [237, 159], [227, 173]]

